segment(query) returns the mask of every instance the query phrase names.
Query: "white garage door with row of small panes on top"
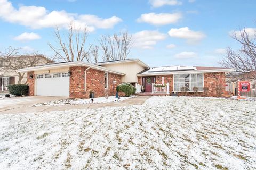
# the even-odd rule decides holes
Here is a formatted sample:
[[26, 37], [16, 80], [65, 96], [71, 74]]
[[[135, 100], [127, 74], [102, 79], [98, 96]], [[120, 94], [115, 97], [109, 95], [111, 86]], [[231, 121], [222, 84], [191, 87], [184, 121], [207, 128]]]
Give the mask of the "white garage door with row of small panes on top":
[[36, 95], [69, 97], [68, 73], [37, 74]]

